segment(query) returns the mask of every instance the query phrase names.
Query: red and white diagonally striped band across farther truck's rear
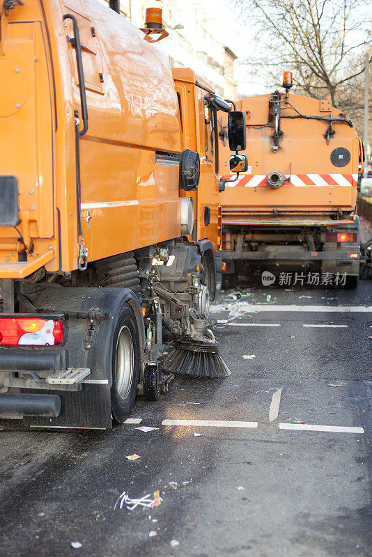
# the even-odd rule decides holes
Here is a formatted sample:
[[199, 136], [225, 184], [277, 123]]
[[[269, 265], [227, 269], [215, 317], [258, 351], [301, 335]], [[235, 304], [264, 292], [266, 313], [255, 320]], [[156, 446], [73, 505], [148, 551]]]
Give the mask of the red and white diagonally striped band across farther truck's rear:
[[[221, 176], [221, 178], [234, 178], [236, 174]], [[357, 174], [286, 174], [290, 182], [285, 186], [356, 186]], [[236, 182], [227, 182], [226, 187], [268, 187], [266, 176], [263, 174], [240, 174]]]

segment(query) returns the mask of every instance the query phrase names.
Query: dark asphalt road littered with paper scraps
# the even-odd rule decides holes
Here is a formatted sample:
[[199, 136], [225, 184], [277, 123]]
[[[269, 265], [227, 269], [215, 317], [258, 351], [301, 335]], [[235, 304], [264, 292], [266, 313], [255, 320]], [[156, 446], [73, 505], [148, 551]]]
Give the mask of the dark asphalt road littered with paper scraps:
[[[231, 376], [138, 400], [132, 418], [156, 430], [0, 423], [0, 556], [371, 556], [371, 291], [223, 292], [212, 316]], [[157, 489], [156, 508], [114, 509]]]

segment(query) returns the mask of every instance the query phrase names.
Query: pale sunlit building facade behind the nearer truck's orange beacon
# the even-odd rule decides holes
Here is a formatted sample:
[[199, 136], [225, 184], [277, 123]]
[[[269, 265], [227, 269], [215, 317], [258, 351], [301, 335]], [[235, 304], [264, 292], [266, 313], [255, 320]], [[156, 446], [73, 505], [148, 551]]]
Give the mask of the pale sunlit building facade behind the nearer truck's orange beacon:
[[[108, 3], [108, 0], [100, 0]], [[237, 58], [218, 37], [216, 22], [199, 0], [120, 0], [121, 14], [143, 27], [146, 8], [162, 8], [169, 32], [162, 43], [172, 68], [192, 68], [215, 88], [217, 95], [236, 100], [233, 62]]]

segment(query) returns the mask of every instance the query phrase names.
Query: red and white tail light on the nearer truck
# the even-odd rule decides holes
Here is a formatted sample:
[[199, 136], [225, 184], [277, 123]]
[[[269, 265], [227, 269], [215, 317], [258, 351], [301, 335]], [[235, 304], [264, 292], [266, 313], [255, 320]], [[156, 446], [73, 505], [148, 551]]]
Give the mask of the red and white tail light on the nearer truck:
[[0, 318], [0, 345], [56, 346], [62, 340], [62, 320], [39, 317]]

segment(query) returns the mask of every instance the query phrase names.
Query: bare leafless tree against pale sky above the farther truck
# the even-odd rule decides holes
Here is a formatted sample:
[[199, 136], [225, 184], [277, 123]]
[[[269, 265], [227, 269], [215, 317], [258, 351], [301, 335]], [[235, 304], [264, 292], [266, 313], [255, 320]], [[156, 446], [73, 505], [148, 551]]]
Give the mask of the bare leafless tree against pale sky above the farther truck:
[[[295, 85], [311, 97], [338, 95], [364, 72], [371, 45], [371, 5], [364, 0], [235, 0], [258, 54], [246, 63], [265, 68], [277, 82], [279, 67], [293, 70]], [[254, 24], [254, 26], [252, 26]], [[372, 56], [371, 56], [372, 60]]]

